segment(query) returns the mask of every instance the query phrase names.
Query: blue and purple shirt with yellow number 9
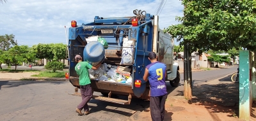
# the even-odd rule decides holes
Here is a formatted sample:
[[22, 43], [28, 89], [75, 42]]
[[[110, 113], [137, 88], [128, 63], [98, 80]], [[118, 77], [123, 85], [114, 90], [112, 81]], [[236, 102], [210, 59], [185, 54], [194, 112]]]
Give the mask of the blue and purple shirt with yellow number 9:
[[161, 62], [153, 62], [146, 66], [150, 83], [150, 96], [163, 96], [167, 94], [165, 84], [166, 65]]

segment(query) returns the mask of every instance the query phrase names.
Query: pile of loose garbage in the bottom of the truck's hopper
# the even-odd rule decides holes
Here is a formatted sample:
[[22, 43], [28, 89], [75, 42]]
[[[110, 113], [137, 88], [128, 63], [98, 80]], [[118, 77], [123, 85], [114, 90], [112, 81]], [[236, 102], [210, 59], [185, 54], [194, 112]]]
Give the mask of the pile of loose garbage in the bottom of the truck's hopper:
[[104, 80], [107, 82], [132, 83], [132, 77], [129, 72], [118, 71], [119, 66], [102, 64], [97, 70], [89, 69], [90, 79]]

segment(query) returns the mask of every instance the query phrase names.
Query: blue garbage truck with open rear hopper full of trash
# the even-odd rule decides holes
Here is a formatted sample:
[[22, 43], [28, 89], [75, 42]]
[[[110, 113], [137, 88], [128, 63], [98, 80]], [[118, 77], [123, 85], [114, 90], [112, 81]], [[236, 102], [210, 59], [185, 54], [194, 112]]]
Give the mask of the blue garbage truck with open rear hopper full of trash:
[[[99, 39], [104, 42], [101, 43], [103, 50], [102, 47], [98, 48]], [[166, 64], [166, 82], [170, 82], [172, 87], [179, 86], [179, 66], [173, 62], [174, 39], [159, 29], [157, 15], [134, 10], [133, 17], [95, 16], [94, 22], [81, 25], [72, 20], [67, 41], [69, 69], [66, 78], [75, 87], [75, 95], [79, 94], [79, 76], [75, 71], [77, 62], [74, 59], [76, 55], [88, 61], [84, 59], [87, 55], [102, 56], [104, 53], [103, 59], [99, 58], [96, 62], [102, 64], [100, 68], [89, 70], [93, 91], [102, 94], [93, 95], [92, 99], [118, 104], [130, 104], [132, 98], [149, 100], [150, 85], [143, 80], [143, 75], [145, 67], [150, 64], [150, 52], [155, 52], [157, 61]], [[127, 96], [127, 99], [116, 99], [113, 95]]]

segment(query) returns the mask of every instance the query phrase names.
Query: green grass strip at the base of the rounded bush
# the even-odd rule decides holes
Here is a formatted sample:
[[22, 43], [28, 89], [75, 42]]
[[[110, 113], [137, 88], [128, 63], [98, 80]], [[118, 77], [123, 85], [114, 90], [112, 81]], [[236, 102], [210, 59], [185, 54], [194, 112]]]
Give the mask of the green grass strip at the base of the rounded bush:
[[55, 77], [55, 78], [65, 78], [65, 71], [41, 71], [38, 75], [31, 75], [31, 76], [36, 76], [36, 77]]

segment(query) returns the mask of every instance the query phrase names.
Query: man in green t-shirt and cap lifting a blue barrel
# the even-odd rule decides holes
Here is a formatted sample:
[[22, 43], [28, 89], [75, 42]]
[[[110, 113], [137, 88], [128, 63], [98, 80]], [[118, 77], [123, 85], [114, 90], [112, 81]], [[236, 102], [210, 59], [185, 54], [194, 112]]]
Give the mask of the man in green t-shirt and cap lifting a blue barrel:
[[[79, 85], [81, 90], [81, 97], [83, 101], [77, 106], [76, 112], [78, 115], [88, 115], [89, 114], [89, 107], [88, 102], [92, 98], [93, 91], [91, 86], [91, 80], [88, 69], [98, 69], [100, 67], [101, 62], [97, 66], [92, 66], [86, 61], [82, 61], [82, 57], [80, 55], [76, 55], [75, 57], [76, 64], [75, 70], [77, 75], [79, 76]], [[84, 109], [84, 114], [81, 110]]]

